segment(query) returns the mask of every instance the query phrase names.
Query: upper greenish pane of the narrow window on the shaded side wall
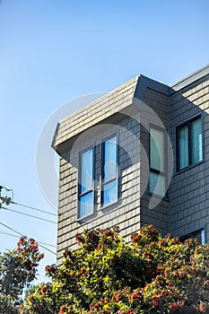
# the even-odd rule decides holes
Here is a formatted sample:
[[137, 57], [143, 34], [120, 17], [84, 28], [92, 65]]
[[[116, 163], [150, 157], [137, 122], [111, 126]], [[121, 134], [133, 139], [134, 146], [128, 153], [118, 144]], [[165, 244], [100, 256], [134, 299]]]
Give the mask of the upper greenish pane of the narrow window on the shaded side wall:
[[150, 129], [151, 168], [164, 171], [164, 135], [161, 130]]

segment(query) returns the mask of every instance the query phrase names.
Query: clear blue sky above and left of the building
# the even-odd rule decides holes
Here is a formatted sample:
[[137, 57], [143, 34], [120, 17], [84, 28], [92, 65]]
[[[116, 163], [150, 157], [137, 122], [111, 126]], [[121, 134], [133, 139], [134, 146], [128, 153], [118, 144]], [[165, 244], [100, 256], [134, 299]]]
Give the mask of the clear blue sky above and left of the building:
[[[109, 92], [137, 74], [171, 84], [206, 65], [208, 12], [207, 0], [2, 0], [0, 185], [13, 188], [14, 201], [56, 213], [41, 191], [35, 163], [48, 118], [68, 100]], [[14, 230], [56, 245], [56, 224], [0, 214]], [[0, 231], [15, 234], [1, 224]], [[1, 251], [17, 242], [2, 233], [0, 239]], [[56, 261], [45, 253], [42, 267]]]

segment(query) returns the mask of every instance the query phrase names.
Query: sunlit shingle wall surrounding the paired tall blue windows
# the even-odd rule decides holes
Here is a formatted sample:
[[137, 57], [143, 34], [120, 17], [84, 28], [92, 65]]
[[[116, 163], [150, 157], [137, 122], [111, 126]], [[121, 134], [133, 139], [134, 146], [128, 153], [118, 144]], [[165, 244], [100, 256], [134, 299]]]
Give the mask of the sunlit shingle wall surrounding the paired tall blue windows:
[[[74, 235], [92, 228], [106, 228], [118, 225], [121, 234], [128, 238], [140, 229], [140, 169], [139, 169], [139, 123], [131, 117], [124, 118], [118, 125], [107, 125], [104, 129], [96, 127], [91, 138], [80, 136], [71, 151], [60, 158], [59, 183], [59, 222], [57, 239], [57, 259], [61, 262], [65, 248], [75, 248]], [[118, 132], [119, 140], [119, 186], [118, 204], [100, 208], [100, 141], [107, 135]], [[78, 152], [84, 146], [95, 144], [95, 214], [86, 222], [77, 221], [77, 169]]]

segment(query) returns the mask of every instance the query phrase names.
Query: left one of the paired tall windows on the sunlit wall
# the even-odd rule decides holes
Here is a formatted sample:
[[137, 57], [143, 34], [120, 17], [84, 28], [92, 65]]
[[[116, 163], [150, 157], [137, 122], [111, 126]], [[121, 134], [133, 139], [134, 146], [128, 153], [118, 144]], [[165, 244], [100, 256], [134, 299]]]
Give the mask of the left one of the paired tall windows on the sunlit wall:
[[93, 213], [93, 148], [80, 154], [78, 218]]

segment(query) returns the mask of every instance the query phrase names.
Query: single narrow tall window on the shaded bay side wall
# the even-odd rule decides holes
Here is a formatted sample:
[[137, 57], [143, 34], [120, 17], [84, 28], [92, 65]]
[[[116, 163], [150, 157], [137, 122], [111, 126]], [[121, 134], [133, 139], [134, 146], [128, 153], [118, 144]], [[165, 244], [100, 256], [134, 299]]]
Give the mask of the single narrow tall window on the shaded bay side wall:
[[160, 128], [150, 128], [150, 179], [151, 193], [159, 196], [166, 194], [165, 135]]

